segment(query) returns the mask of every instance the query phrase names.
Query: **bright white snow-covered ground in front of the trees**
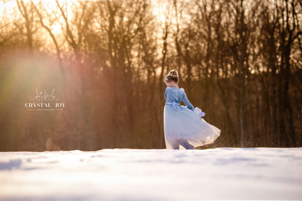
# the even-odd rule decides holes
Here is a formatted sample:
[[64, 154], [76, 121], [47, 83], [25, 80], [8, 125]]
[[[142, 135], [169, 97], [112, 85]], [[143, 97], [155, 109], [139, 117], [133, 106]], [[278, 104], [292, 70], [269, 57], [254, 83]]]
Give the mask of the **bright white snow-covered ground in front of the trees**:
[[302, 147], [0, 152], [0, 200], [302, 200]]

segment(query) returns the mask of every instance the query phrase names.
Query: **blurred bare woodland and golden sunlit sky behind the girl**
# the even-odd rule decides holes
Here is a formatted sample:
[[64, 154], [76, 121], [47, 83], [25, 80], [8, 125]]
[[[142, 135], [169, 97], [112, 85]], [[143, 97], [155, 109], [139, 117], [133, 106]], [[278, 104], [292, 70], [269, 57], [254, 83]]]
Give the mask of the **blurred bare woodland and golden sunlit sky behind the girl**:
[[[172, 69], [221, 129], [200, 149], [302, 146], [301, 1], [0, 1], [0, 18], [0, 151], [163, 149]], [[36, 89], [65, 108], [28, 110]]]

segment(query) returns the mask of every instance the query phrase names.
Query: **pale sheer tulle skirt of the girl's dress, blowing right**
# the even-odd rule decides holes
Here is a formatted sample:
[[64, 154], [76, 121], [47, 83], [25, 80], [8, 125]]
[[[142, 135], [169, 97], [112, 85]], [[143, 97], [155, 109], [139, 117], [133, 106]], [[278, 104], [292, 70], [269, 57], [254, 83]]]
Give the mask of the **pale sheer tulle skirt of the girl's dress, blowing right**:
[[[220, 129], [199, 117], [199, 108], [194, 111], [172, 105], [164, 107], [164, 132], [166, 149], [194, 149], [213, 143], [220, 136]], [[191, 147], [191, 148], [190, 148]]]

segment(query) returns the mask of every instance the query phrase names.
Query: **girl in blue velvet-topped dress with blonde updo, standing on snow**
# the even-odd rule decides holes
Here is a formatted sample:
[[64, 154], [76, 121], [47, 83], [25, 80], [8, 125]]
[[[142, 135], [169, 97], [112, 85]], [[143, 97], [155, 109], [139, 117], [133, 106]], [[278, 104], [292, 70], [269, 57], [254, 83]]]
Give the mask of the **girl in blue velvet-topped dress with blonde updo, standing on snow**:
[[[164, 132], [167, 149], [195, 149], [213, 143], [220, 136], [220, 130], [207, 123], [205, 115], [194, 108], [185, 90], [178, 87], [178, 73], [171, 70], [165, 76]], [[179, 105], [184, 102], [185, 106]], [[180, 147], [181, 145], [181, 147]]]

